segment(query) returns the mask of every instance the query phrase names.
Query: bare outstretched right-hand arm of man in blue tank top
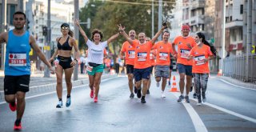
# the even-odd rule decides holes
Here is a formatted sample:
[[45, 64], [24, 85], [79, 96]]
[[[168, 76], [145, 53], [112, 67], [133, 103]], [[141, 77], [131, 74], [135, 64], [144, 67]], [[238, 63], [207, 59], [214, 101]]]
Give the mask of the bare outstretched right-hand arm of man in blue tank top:
[[42, 51], [39, 49], [38, 45], [36, 44], [34, 37], [32, 37], [31, 35], [30, 35], [30, 46], [38, 54], [38, 57], [42, 60], [42, 62], [44, 62], [46, 66], [48, 66], [49, 70], [51, 71], [50, 73], [54, 74], [55, 73], [54, 68], [50, 65], [50, 62], [47, 61], [46, 56], [42, 54]]

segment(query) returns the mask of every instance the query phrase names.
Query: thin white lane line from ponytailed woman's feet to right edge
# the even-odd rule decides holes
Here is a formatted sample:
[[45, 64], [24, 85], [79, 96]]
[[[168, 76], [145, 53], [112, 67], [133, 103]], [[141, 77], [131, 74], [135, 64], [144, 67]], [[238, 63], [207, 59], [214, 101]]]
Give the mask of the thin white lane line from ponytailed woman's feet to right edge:
[[[194, 100], [194, 101], [197, 102], [197, 100], [194, 99], [194, 98], [191, 98], [191, 100]], [[238, 117], [238, 118], [243, 118], [243, 119], [245, 119], [245, 120], [247, 120], [247, 121], [256, 123], [256, 119], [255, 119], [255, 118], [250, 118], [250, 117], [247, 117], [246, 115], [238, 114], [238, 113], [236, 113], [236, 112], [234, 112], [234, 111], [231, 111], [231, 110], [226, 110], [225, 108], [222, 108], [222, 107], [220, 107], [220, 106], [215, 106], [214, 104], [211, 104], [211, 103], [209, 103], [209, 102], [204, 102], [203, 104], [205, 104], [205, 105], [207, 105], [207, 106], [211, 106], [211, 107], [213, 107], [213, 108], [215, 108], [215, 109], [218, 109], [218, 110], [221, 110], [221, 111], [223, 111], [223, 112], [226, 112], [227, 114], [232, 114], [232, 115], [234, 115], [234, 116], [236, 116], [236, 117]]]

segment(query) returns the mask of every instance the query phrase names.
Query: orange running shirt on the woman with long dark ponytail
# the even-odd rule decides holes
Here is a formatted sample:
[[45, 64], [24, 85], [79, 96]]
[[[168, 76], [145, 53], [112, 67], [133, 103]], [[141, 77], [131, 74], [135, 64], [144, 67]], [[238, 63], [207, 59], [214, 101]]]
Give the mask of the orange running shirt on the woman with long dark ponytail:
[[209, 73], [209, 62], [204, 62], [204, 58], [212, 56], [210, 51], [210, 46], [205, 44], [202, 47], [194, 46], [190, 51], [190, 56], [194, 57], [194, 62], [192, 66], [192, 73], [206, 74]]

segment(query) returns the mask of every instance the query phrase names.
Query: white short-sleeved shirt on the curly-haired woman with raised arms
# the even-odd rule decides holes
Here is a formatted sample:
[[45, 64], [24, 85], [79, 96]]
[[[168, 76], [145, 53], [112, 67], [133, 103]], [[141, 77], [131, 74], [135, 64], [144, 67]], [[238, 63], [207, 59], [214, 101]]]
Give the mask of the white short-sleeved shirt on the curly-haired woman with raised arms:
[[88, 39], [86, 44], [88, 46], [87, 62], [102, 64], [104, 57], [104, 49], [107, 46], [107, 41], [99, 42], [99, 44], [96, 45], [94, 42], [91, 42], [90, 39]]

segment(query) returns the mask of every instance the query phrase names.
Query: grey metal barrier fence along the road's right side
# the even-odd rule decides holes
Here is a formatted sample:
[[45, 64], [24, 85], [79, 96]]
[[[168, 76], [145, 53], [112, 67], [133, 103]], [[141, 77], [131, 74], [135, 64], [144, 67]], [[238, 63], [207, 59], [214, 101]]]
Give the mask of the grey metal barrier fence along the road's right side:
[[246, 71], [246, 54], [224, 58], [223, 66], [222, 73], [224, 76], [235, 78], [242, 82], [256, 83], [256, 54], [249, 54], [248, 71]]

